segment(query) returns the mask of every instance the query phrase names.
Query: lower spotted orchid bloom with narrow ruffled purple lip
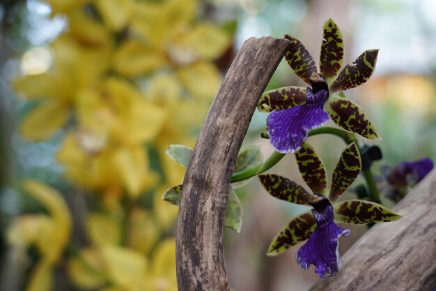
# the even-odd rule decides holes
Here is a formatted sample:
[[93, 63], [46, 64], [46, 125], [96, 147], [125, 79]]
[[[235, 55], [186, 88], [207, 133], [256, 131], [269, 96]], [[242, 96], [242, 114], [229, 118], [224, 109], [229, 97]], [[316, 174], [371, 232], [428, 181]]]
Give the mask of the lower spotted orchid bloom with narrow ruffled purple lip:
[[[356, 144], [345, 147], [332, 175], [327, 199], [327, 172], [325, 165], [313, 147], [304, 143], [295, 152], [299, 171], [312, 193], [303, 186], [277, 174], [259, 175], [260, 183], [273, 197], [292, 203], [312, 206], [311, 211], [295, 216], [274, 237], [267, 255], [278, 255], [299, 241], [306, 241], [296, 260], [299, 267], [308, 269], [315, 265], [321, 277], [334, 276], [341, 261], [338, 253], [338, 238], [350, 234], [350, 230], [338, 227], [334, 221], [363, 224], [395, 221], [400, 215], [380, 204], [364, 200], [336, 202], [347, 191], [361, 170], [361, 158]], [[333, 203], [333, 205], [331, 204]]]

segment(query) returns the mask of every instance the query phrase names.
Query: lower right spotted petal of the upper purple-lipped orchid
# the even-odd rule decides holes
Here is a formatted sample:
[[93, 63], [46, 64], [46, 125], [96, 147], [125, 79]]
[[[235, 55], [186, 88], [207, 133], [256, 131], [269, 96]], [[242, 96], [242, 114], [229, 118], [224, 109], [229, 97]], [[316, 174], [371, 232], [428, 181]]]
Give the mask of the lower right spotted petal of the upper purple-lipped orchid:
[[364, 110], [351, 100], [331, 95], [324, 105], [324, 110], [335, 124], [350, 133], [356, 133], [368, 140], [380, 139]]

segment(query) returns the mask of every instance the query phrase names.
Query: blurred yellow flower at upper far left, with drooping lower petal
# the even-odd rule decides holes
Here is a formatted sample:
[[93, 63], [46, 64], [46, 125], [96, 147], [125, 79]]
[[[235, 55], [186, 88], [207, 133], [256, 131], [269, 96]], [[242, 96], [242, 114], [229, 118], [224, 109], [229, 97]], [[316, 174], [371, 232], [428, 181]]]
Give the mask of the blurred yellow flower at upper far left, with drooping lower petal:
[[39, 100], [22, 121], [22, 135], [40, 141], [51, 137], [70, 116], [81, 90], [95, 87], [108, 69], [110, 50], [83, 47], [71, 35], [60, 36], [50, 46], [54, 66], [47, 73], [26, 75], [14, 82], [26, 98]]

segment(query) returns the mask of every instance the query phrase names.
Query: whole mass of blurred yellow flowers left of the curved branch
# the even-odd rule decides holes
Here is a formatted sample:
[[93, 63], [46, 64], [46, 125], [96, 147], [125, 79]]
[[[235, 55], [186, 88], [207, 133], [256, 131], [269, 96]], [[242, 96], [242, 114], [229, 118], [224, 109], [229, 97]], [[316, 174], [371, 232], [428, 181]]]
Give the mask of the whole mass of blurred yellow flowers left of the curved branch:
[[[84, 290], [176, 291], [176, 242], [164, 238], [178, 208], [161, 195], [185, 169], [165, 151], [194, 146], [221, 83], [213, 61], [231, 35], [200, 20], [196, 0], [47, 2], [68, 20], [49, 44], [52, 66], [13, 85], [32, 101], [22, 135], [41, 141], [63, 129], [57, 158], [65, 177], [96, 195], [85, 223], [90, 244], [68, 255], [68, 278]], [[26, 187], [53, 193], [36, 181]], [[34, 244], [43, 254], [26, 291], [49, 290], [68, 244], [68, 209], [56, 207], [60, 216], [52, 206], [10, 227], [15, 246]]]

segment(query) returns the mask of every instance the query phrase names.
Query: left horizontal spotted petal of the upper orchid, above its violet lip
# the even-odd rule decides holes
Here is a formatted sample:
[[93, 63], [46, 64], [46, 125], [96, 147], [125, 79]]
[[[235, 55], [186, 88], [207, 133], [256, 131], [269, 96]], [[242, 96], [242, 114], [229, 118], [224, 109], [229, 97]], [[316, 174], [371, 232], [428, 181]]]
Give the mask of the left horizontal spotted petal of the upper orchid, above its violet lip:
[[260, 112], [288, 109], [306, 103], [306, 88], [297, 86], [281, 87], [266, 91], [258, 103]]

